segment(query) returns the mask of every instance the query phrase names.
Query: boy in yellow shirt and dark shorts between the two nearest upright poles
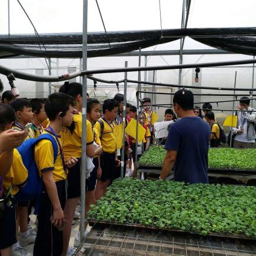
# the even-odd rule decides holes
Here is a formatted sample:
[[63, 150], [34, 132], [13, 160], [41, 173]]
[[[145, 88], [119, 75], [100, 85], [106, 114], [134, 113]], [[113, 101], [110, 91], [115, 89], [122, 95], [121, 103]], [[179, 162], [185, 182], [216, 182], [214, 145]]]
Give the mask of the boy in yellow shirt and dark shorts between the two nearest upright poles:
[[100, 157], [102, 172], [98, 172], [98, 181], [95, 188], [96, 200], [107, 191], [108, 185], [115, 177], [115, 166], [120, 164], [117, 158], [117, 143], [114, 136], [114, 120], [118, 114], [119, 103], [114, 99], [105, 99], [102, 105], [103, 116], [95, 124], [102, 145]]

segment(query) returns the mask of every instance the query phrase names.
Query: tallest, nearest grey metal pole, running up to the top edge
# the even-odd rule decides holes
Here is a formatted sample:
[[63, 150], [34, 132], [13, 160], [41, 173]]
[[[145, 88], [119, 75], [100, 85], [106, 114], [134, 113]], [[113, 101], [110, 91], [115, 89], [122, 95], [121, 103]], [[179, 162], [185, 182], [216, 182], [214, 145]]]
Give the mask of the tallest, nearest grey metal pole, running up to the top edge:
[[[83, 26], [82, 26], [82, 70], [87, 70], [87, 12], [88, 0], [83, 3]], [[81, 219], [80, 219], [80, 242], [85, 233], [85, 172], [87, 169], [86, 159], [87, 141], [87, 77], [82, 77], [82, 169], [81, 169]]]

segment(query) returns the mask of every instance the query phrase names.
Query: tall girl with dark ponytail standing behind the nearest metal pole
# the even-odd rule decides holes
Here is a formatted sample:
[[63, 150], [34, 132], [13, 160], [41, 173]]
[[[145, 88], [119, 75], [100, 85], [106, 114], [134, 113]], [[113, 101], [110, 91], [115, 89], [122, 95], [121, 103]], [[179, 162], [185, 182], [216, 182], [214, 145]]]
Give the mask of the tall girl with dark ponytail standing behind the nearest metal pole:
[[[60, 92], [70, 95], [75, 102], [74, 120], [72, 125], [61, 132], [63, 151], [65, 159], [71, 156], [78, 159], [74, 167], [68, 169], [68, 189], [67, 202], [65, 205], [65, 220], [67, 225], [63, 231], [63, 252], [67, 254], [69, 239], [71, 235], [71, 225], [75, 214], [75, 209], [81, 196], [81, 157], [82, 157], [82, 85], [77, 82], [65, 82], [59, 89]], [[87, 156], [94, 157], [94, 135], [92, 133], [91, 122], [87, 120]], [[88, 180], [87, 180], [88, 185]], [[88, 194], [88, 189], [85, 195]], [[68, 252], [70, 254], [70, 252]]]

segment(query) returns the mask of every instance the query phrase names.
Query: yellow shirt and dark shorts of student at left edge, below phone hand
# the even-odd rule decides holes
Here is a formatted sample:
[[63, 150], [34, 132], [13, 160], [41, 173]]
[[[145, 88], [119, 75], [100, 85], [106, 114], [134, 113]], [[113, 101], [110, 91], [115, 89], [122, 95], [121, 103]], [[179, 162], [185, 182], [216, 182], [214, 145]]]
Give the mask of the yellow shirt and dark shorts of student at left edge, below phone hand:
[[21, 155], [18, 150], [14, 149], [14, 157], [12, 167], [3, 179], [3, 187], [5, 194], [13, 185], [11, 198], [6, 207], [6, 215], [0, 218], [0, 249], [8, 248], [15, 244], [16, 241], [16, 210], [15, 210], [15, 195], [19, 191], [19, 187], [26, 184], [28, 171], [25, 168]]

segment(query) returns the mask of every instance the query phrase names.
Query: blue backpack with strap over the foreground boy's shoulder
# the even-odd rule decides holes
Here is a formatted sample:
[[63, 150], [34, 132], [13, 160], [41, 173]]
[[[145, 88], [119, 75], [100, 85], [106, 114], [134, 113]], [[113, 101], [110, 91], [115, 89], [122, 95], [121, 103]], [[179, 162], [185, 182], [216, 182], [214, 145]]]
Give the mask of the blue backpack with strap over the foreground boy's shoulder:
[[19, 188], [19, 192], [15, 195], [17, 201], [39, 199], [43, 182], [38, 173], [34, 152], [35, 145], [42, 139], [49, 139], [49, 141], [52, 142], [52, 147], [54, 148], [54, 162], [56, 161], [58, 155], [58, 144], [54, 137], [52, 137], [50, 134], [42, 134], [36, 139], [27, 139], [22, 143], [21, 146], [17, 148], [22, 157], [22, 162], [28, 170], [28, 179], [26, 180], [26, 185]]

